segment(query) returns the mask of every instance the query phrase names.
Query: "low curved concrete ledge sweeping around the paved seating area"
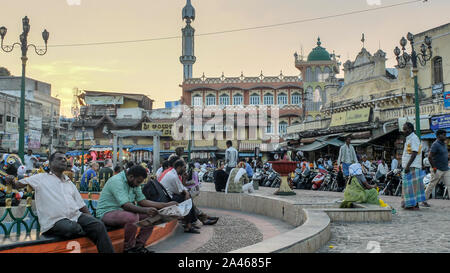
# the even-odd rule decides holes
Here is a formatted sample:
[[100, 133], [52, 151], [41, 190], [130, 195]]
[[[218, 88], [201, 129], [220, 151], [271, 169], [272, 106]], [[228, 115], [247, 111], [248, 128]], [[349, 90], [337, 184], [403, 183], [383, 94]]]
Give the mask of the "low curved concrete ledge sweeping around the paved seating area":
[[[339, 203], [300, 204], [279, 196], [219, 193], [202, 191], [195, 198], [199, 207], [239, 210], [280, 219], [296, 228], [260, 243], [231, 253], [311, 253], [331, 238], [332, 221], [390, 221], [390, 209], [357, 204], [357, 208], [340, 209]], [[320, 208], [321, 207], [321, 208]]]

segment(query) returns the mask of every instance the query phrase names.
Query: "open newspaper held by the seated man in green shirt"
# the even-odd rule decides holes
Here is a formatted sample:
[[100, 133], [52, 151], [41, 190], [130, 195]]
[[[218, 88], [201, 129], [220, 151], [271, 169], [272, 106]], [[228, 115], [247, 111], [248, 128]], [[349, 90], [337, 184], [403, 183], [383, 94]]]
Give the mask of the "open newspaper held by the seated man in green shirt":
[[188, 199], [178, 205], [173, 205], [158, 210], [157, 215], [153, 217], [148, 217], [142, 221], [137, 222], [136, 226], [144, 228], [149, 226], [164, 225], [167, 222], [188, 215], [191, 209], [192, 209], [192, 199]]

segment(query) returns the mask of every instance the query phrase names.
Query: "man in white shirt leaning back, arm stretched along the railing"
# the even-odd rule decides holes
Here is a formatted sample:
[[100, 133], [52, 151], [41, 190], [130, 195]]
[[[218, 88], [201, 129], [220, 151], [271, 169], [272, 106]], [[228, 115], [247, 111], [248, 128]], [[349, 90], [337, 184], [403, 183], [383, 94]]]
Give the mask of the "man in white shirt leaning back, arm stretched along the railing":
[[7, 182], [15, 188], [30, 185], [35, 190], [41, 232], [65, 238], [87, 236], [97, 245], [99, 253], [113, 253], [105, 225], [90, 214], [75, 185], [63, 174], [67, 169], [65, 155], [55, 152], [49, 163], [50, 173], [33, 175], [19, 182], [14, 182], [12, 176], [7, 177]]

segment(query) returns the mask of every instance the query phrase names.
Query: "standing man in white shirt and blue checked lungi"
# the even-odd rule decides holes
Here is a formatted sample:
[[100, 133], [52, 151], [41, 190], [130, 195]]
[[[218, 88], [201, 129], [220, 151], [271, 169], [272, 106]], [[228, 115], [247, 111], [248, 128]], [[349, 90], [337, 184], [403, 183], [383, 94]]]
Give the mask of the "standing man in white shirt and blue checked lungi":
[[402, 207], [408, 210], [418, 210], [419, 202], [425, 202], [422, 168], [422, 146], [416, 134], [414, 125], [406, 122], [403, 125], [406, 136], [402, 155]]

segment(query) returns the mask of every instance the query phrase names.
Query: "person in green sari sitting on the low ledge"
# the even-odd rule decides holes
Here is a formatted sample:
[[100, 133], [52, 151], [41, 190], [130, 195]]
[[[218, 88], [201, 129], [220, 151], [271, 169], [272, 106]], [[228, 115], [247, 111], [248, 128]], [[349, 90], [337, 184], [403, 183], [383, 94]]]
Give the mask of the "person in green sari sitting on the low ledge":
[[359, 163], [349, 167], [350, 177], [344, 191], [344, 201], [341, 208], [351, 207], [353, 202], [380, 205], [377, 185], [367, 183], [366, 177], [362, 174]]

